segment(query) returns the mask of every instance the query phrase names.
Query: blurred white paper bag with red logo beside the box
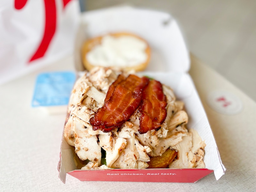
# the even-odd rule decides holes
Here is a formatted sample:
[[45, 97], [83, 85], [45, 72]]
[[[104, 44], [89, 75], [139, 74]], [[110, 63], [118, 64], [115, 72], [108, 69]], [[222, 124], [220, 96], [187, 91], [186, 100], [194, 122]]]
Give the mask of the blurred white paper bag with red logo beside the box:
[[1, 0], [0, 84], [74, 49], [78, 0]]

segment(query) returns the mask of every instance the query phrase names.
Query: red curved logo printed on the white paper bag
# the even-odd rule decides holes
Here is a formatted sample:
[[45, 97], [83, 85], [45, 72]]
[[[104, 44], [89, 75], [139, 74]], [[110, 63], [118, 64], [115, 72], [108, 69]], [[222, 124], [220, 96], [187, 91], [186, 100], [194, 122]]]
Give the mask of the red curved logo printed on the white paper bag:
[[[15, 0], [14, 7], [17, 10], [22, 9], [28, 0]], [[62, 0], [63, 8], [65, 9], [66, 5], [71, 0]], [[44, 10], [45, 10], [45, 24], [44, 24], [44, 34], [39, 44], [38, 48], [34, 52], [34, 54], [29, 59], [29, 62], [41, 58], [44, 56], [48, 46], [51, 43], [52, 37], [56, 31], [56, 23], [57, 23], [57, 11], [56, 11], [56, 3], [55, 0], [44, 0]], [[33, 15], [31, 15], [33, 17]]]

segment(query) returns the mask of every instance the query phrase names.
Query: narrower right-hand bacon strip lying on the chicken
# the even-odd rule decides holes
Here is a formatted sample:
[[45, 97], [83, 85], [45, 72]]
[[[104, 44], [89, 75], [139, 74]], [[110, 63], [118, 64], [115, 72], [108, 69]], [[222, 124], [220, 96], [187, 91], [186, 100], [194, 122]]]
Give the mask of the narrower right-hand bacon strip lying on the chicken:
[[139, 118], [140, 134], [160, 128], [167, 116], [166, 105], [162, 84], [159, 81], [151, 80], [142, 94]]

